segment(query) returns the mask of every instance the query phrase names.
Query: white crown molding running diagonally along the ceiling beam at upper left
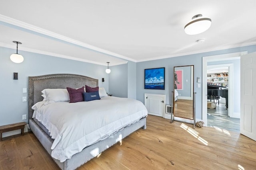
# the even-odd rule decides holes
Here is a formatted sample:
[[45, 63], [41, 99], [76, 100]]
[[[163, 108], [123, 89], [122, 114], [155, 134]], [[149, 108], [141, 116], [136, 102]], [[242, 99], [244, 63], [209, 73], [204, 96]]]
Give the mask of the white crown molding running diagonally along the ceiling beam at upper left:
[[68, 43], [79, 45], [81, 47], [85, 47], [85, 48], [88, 48], [88, 49], [91, 49], [91, 50], [94, 50], [94, 51], [98, 51], [100, 53], [104, 53], [104, 54], [111, 55], [111, 56], [114, 56], [114, 57], [118, 57], [118, 58], [121, 58], [121, 59], [125, 59], [125, 60], [128, 60], [128, 61], [136, 62], [136, 60], [125, 57], [123, 55], [119, 55], [117, 53], [113, 53], [111, 51], [107, 51], [107, 50], [95, 47], [93, 45], [89, 45], [89, 44], [83, 43], [81, 41], [77, 41], [75, 39], [72, 39], [72, 38], [54, 33], [52, 31], [48, 31], [46, 29], [42, 29], [40, 27], [36, 27], [35, 25], [31, 25], [29, 23], [25, 23], [25, 22], [22, 22], [22, 21], [19, 21], [19, 20], [15, 20], [13, 18], [4, 16], [4, 15], [1, 15], [1, 14], [0, 14], [0, 21], [6, 22], [6, 23], [9, 23], [9, 24], [12, 24], [12, 25], [16, 25], [16, 26], [22, 27], [24, 29], [28, 29], [30, 31], [41, 33], [41, 34], [44, 34], [44, 35], [47, 35], [47, 36], [50, 36], [50, 37], [53, 37], [53, 38], [56, 38], [56, 39], [60, 39], [62, 41], [66, 41]]

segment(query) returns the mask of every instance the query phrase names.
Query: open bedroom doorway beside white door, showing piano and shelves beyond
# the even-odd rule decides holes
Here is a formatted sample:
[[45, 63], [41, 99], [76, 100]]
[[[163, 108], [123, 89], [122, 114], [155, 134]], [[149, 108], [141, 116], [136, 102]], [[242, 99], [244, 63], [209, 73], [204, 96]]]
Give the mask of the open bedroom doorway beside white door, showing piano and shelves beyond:
[[[218, 62], [218, 63], [223, 63]], [[226, 130], [240, 130], [240, 116], [232, 114], [234, 108], [228, 107], [228, 103], [239, 105], [239, 94], [230, 94], [234, 92], [234, 87], [239, 84], [230, 84], [234, 75], [234, 62], [236, 66], [240, 64], [239, 59], [228, 60], [229, 64], [212, 64], [216, 62], [208, 62], [207, 65], [207, 122], [208, 127], [218, 127]], [[240, 75], [239, 68], [236, 74]], [[236, 76], [235, 82], [240, 82], [240, 76]], [[231, 86], [230, 86], [231, 85]], [[230, 87], [229, 87], [230, 86]], [[228, 98], [228, 96], [234, 96]], [[236, 99], [233, 101], [233, 99]], [[237, 108], [239, 109], [239, 108]], [[236, 109], [236, 111], [237, 111]]]

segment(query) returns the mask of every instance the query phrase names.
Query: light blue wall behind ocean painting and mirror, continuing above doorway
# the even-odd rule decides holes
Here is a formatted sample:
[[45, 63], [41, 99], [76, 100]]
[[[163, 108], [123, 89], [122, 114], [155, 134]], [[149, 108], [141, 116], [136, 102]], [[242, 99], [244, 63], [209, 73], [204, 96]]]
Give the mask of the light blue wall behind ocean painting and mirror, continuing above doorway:
[[[196, 118], [202, 119], [202, 88], [196, 88], [196, 78], [202, 78], [202, 57], [227, 53], [236, 53], [240, 51], [248, 51], [248, 53], [255, 52], [256, 45], [137, 63], [137, 100], [140, 100], [144, 103], [145, 93], [166, 94], [166, 104], [171, 104], [171, 92], [173, 91], [173, 67], [194, 65], [194, 92], [196, 92]], [[165, 67], [165, 90], [144, 89], [144, 69], [158, 67]]]

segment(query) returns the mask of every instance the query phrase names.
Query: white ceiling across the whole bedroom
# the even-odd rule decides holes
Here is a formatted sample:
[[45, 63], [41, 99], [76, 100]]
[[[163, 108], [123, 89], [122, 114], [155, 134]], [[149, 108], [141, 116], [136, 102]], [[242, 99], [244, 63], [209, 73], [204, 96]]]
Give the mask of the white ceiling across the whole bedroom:
[[[187, 35], [196, 14], [212, 25]], [[110, 66], [254, 45], [256, 0], [0, 0], [0, 46], [16, 49], [12, 41]]]

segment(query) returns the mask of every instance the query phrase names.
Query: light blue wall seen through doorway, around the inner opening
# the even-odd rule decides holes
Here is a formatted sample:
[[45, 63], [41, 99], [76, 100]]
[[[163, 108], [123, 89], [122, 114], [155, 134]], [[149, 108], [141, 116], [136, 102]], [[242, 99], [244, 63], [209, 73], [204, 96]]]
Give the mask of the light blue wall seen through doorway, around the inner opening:
[[[234, 112], [240, 113], [240, 59], [208, 62], [207, 65], [234, 64]], [[239, 82], [239, 83], [238, 83]]]

